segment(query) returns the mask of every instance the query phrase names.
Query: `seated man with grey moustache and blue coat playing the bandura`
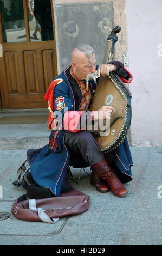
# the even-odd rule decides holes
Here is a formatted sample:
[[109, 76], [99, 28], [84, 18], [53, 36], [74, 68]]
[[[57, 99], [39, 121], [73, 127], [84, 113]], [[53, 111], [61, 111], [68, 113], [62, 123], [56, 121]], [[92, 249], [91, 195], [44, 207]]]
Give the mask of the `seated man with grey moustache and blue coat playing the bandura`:
[[123, 183], [132, 180], [127, 139], [112, 153], [103, 154], [93, 133], [87, 130], [87, 124], [110, 119], [115, 111], [111, 106], [89, 111], [98, 86], [94, 76], [108, 76], [109, 72], [116, 72], [125, 83], [132, 81], [132, 75], [121, 62], [98, 66], [93, 48], [79, 45], [72, 52], [69, 68], [51, 82], [44, 96], [48, 102], [49, 129], [53, 130], [49, 144], [31, 164], [31, 175], [36, 184], [50, 188], [55, 196], [60, 195], [68, 165], [90, 166], [90, 183], [99, 192], [110, 189], [118, 197], [127, 193]]

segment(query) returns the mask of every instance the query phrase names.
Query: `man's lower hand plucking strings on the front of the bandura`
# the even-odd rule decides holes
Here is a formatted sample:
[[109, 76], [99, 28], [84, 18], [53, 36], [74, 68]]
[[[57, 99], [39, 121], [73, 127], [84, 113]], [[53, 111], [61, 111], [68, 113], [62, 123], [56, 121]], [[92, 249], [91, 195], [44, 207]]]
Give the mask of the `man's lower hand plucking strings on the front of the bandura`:
[[94, 119], [110, 119], [115, 109], [112, 106], [102, 106], [99, 110], [93, 111]]

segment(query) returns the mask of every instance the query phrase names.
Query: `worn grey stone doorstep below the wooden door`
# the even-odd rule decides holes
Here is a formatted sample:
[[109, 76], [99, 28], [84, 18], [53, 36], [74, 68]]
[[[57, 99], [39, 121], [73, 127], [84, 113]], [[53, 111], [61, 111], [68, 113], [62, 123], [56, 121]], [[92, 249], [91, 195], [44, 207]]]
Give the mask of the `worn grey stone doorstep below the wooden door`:
[[1, 111], [0, 118], [32, 115], [47, 115], [47, 121], [36, 124], [1, 124], [0, 149], [1, 150], [27, 150], [41, 148], [48, 144], [50, 130], [48, 129], [48, 111]]

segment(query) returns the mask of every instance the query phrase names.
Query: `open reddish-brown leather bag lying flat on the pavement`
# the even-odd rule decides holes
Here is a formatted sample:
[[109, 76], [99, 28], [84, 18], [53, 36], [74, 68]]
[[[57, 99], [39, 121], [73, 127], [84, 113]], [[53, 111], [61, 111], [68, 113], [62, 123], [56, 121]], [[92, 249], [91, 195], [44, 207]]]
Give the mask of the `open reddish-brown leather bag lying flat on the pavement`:
[[54, 223], [59, 220], [57, 218], [87, 211], [89, 203], [89, 196], [73, 189], [61, 193], [60, 197], [31, 199], [18, 203], [16, 199], [12, 204], [11, 213], [20, 220]]

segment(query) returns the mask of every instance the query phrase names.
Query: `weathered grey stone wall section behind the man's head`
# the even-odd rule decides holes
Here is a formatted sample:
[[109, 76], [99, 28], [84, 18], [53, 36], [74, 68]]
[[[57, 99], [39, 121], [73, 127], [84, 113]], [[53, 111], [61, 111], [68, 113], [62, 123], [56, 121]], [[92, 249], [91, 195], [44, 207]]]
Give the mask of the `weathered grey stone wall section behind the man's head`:
[[122, 30], [115, 45], [115, 59], [128, 65], [125, 27], [125, 3], [114, 1], [54, 1], [57, 60], [59, 73], [70, 65], [73, 48], [89, 44], [97, 63], [103, 62], [106, 39], [112, 28]]

